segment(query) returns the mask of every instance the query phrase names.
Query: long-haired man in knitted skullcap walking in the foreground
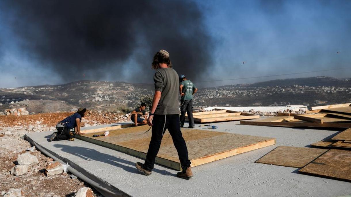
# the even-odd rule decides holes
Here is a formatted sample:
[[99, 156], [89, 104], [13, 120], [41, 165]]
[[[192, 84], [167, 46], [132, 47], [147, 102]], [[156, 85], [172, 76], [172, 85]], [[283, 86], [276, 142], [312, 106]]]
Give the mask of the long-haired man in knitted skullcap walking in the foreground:
[[155, 164], [155, 158], [160, 149], [163, 134], [166, 129], [170, 132], [174, 146], [177, 149], [181, 172], [177, 173], [180, 178], [190, 179], [193, 177], [188, 149], [180, 131], [179, 106], [178, 106], [178, 74], [172, 69], [166, 50], [160, 50], [153, 58], [152, 68], [157, 69], [154, 75], [155, 94], [152, 107], [147, 119], [147, 124], [152, 126], [152, 136], [147, 151], [145, 163], [136, 163], [135, 167], [144, 175], [151, 175]]

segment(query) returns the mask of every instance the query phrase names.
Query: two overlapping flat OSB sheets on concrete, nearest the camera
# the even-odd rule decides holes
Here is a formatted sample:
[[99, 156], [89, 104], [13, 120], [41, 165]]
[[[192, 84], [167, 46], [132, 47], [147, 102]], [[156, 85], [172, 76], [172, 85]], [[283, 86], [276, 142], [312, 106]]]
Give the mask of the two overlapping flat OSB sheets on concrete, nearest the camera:
[[306, 147], [277, 147], [256, 161], [271, 165], [300, 168], [309, 175], [351, 181], [351, 151]]

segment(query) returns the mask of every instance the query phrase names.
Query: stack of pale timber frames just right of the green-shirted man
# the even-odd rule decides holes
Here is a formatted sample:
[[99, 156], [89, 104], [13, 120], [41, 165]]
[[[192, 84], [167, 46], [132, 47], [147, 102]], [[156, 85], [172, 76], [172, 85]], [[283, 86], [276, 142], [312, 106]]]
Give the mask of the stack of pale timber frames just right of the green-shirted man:
[[[257, 119], [260, 116], [238, 111], [215, 109], [214, 111], [194, 112], [193, 117], [194, 122], [205, 123]], [[187, 115], [185, 116], [185, 120], [188, 121]]]

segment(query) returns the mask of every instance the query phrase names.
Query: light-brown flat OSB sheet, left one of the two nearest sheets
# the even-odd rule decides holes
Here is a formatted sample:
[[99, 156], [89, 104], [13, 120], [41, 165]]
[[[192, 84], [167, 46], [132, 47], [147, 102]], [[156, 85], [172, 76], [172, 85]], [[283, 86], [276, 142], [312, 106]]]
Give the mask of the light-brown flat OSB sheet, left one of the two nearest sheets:
[[256, 163], [302, 168], [326, 151], [327, 149], [279, 146]]

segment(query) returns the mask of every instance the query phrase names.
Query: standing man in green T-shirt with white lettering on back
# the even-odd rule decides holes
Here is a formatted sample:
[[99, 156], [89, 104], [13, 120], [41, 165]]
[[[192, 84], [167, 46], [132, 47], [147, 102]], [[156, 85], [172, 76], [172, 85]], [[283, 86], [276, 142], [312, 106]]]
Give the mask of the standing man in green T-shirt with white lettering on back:
[[194, 128], [193, 118], [193, 95], [197, 92], [197, 88], [193, 82], [187, 80], [184, 75], [179, 76], [180, 86], [180, 127], [184, 127], [185, 112], [188, 114], [189, 128]]

